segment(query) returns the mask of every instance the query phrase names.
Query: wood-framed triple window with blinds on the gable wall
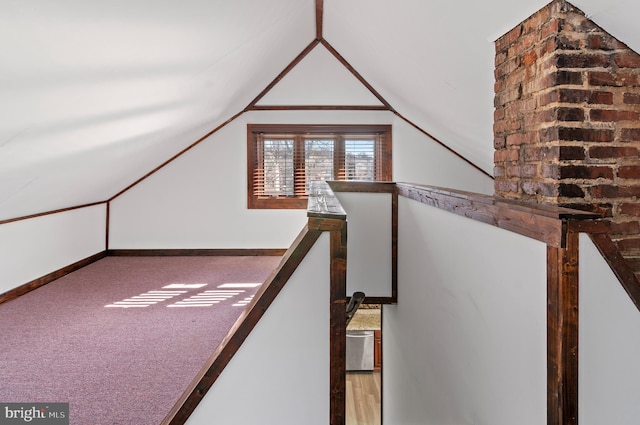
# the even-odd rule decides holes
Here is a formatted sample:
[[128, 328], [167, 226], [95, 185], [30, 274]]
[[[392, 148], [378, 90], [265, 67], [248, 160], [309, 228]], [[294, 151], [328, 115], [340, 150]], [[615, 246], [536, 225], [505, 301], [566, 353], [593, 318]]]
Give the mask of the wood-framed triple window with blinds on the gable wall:
[[390, 125], [247, 126], [249, 208], [306, 208], [314, 180], [391, 181]]

